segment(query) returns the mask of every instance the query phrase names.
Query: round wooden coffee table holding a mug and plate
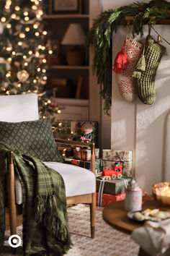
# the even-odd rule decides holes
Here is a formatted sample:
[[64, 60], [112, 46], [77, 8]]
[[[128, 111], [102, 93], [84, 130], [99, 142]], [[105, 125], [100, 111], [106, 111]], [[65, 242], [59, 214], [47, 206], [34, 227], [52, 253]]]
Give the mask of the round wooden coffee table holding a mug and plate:
[[[169, 206], [160, 205], [153, 199], [153, 197], [148, 197], [148, 200], [143, 204], [143, 209], [146, 208], [159, 208], [161, 210], [167, 210], [170, 212]], [[112, 202], [103, 210], [104, 221], [107, 221], [107, 223], [109, 223], [111, 226], [114, 226], [116, 229], [119, 229], [120, 231], [131, 234], [133, 229], [142, 226], [143, 223], [131, 221], [127, 214], [128, 210], [125, 210], [125, 201]]]

